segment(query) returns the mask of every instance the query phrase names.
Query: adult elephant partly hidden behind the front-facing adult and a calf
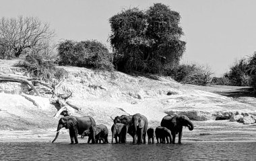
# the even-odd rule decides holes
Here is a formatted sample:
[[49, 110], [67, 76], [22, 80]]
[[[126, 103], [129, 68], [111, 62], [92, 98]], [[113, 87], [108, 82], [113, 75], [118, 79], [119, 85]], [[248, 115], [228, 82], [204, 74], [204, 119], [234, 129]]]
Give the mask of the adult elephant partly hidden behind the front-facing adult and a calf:
[[[113, 119], [112, 117], [110, 118]], [[120, 117], [117, 116], [115, 117], [115, 119], [113, 119], [114, 124], [123, 123], [125, 125], [126, 131], [123, 137], [121, 138], [121, 143], [126, 143], [126, 134], [129, 133], [128, 129], [129, 129], [129, 125], [131, 124], [132, 118], [133, 118], [133, 115], [121, 115]], [[129, 134], [132, 135], [131, 133]]]

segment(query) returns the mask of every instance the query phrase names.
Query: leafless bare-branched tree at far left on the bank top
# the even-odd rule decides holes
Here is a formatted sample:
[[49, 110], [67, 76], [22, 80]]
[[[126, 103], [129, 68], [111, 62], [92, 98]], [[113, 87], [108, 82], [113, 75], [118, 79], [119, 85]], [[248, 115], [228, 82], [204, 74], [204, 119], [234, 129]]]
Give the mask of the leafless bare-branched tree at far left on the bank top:
[[[38, 51], [49, 45], [55, 32], [49, 24], [42, 23], [35, 17], [1, 18], [0, 20], [0, 51], [1, 55], [11, 53], [19, 57], [24, 51]], [[4, 51], [4, 52], [3, 52]], [[7, 56], [8, 59], [11, 56]]]

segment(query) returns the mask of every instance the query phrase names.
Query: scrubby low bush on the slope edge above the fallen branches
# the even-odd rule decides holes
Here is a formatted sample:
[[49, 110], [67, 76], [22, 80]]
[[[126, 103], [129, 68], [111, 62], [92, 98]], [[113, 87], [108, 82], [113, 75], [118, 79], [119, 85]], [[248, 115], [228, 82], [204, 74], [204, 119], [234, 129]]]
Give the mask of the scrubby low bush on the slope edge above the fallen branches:
[[27, 55], [24, 61], [20, 61], [17, 66], [25, 67], [30, 76], [41, 77], [46, 82], [67, 76], [65, 69], [56, 68], [53, 61], [44, 59], [42, 55]]

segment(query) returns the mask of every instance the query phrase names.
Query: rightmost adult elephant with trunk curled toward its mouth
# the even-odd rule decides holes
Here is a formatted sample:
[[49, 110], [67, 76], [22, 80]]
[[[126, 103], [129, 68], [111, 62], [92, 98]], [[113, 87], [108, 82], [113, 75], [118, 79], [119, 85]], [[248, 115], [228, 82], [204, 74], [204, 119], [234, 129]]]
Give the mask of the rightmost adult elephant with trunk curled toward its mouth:
[[172, 133], [172, 143], [175, 143], [176, 134], [179, 133], [179, 143], [181, 143], [183, 126], [189, 127], [189, 130], [194, 129], [193, 123], [189, 120], [189, 118], [185, 115], [181, 116], [171, 116], [167, 115], [162, 118], [161, 127], [166, 127], [170, 129]]

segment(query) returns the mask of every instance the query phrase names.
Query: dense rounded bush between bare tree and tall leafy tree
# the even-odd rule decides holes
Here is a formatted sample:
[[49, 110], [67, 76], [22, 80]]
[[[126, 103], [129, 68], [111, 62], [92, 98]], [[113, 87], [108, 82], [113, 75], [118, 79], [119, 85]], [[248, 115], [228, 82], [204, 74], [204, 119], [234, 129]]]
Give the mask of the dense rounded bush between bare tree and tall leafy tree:
[[65, 40], [58, 46], [59, 65], [113, 69], [113, 54], [96, 40]]

